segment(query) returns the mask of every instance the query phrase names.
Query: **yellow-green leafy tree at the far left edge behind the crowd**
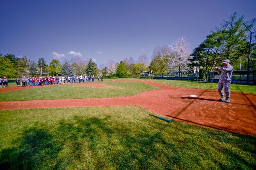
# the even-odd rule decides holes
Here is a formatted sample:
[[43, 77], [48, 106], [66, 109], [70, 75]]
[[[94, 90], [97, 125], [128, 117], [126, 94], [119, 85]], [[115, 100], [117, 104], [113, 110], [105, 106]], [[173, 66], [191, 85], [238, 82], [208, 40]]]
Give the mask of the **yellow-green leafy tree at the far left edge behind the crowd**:
[[16, 76], [16, 69], [14, 64], [7, 58], [0, 55], [0, 77], [13, 78]]

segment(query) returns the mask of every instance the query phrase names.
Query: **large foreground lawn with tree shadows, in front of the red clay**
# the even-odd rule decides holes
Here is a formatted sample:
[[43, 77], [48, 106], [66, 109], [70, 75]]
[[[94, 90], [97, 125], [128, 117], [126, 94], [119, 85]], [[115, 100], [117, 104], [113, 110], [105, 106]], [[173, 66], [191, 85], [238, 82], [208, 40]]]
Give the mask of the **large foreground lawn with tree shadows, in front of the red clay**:
[[256, 136], [132, 106], [0, 111], [0, 169], [255, 169]]

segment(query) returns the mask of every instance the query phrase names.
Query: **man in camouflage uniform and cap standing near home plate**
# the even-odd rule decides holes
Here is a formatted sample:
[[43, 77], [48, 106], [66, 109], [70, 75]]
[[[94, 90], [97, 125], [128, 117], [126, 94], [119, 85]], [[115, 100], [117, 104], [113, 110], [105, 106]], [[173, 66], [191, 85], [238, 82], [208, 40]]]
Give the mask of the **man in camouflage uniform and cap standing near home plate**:
[[[220, 80], [218, 82], [218, 92], [220, 93], [221, 98], [218, 100], [220, 102], [230, 102], [230, 83], [232, 78], [233, 66], [229, 64], [229, 60], [223, 60], [222, 64], [224, 67], [213, 67], [214, 69], [218, 69], [218, 73], [220, 74]], [[226, 94], [226, 99], [224, 98], [224, 92]]]

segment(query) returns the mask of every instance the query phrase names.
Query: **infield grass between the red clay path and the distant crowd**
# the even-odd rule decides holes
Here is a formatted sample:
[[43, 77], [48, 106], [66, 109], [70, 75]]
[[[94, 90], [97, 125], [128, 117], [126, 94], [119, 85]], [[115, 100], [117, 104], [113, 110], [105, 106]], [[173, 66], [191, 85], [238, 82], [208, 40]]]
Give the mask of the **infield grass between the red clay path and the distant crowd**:
[[61, 84], [3, 92], [0, 95], [0, 101], [121, 97], [134, 96], [140, 92], [159, 89], [143, 82], [100, 83], [103, 86], [107, 86], [106, 88], [78, 86], [82, 84], [86, 83]]

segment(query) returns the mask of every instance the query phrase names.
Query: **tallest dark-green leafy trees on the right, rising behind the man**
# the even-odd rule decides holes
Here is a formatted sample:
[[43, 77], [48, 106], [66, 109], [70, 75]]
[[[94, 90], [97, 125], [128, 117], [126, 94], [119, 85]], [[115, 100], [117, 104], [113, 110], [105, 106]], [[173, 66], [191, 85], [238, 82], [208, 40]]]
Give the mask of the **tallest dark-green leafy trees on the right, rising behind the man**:
[[[253, 19], [255, 21], [255, 18]], [[246, 27], [243, 25], [244, 16], [238, 17], [235, 12], [224, 20], [220, 28], [212, 31], [191, 54], [191, 67], [202, 67], [200, 75], [203, 78], [208, 77], [208, 72], [212, 71], [213, 66], [220, 66], [223, 59], [230, 59], [230, 64], [234, 70], [247, 69], [246, 61], [248, 57], [248, 41], [246, 36]], [[248, 25], [249, 28], [255, 24]], [[204, 74], [202, 74], [204, 73]]]

